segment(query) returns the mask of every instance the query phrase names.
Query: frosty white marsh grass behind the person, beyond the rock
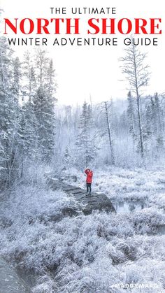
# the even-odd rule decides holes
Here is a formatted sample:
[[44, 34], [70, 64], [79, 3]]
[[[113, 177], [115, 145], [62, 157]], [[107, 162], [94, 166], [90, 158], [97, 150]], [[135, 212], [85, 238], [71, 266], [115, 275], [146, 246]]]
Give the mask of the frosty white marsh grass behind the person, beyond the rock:
[[[141, 201], [148, 199], [159, 206], [165, 206], [165, 169], [135, 171], [122, 168], [96, 169], [92, 184], [93, 192], [103, 192], [110, 199], [134, 199]], [[85, 188], [85, 173], [75, 169], [66, 171], [66, 174], [76, 175], [78, 181], [74, 183], [67, 180], [72, 185]], [[64, 173], [64, 175], [66, 175]]]

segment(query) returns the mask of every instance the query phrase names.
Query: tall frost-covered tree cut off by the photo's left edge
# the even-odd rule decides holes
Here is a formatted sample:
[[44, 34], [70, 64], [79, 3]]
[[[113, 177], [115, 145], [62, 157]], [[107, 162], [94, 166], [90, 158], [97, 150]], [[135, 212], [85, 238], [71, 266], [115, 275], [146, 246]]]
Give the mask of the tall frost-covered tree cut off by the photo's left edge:
[[10, 185], [18, 171], [18, 103], [13, 50], [6, 38], [0, 40], [0, 171], [3, 183]]

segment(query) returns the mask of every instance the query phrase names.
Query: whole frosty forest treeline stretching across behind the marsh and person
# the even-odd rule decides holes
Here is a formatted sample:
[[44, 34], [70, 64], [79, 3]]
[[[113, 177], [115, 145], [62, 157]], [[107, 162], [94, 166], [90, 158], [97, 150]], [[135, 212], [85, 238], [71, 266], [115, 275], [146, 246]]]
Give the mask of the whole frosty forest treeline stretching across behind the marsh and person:
[[[127, 50], [127, 99], [60, 106], [53, 60], [38, 49], [20, 60], [0, 41], [0, 178], [6, 188], [29, 166], [62, 170], [85, 166], [153, 165], [164, 157], [164, 94], [143, 96], [145, 55]], [[63, 85], [65, 87], [65, 85]], [[102, 97], [101, 97], [102, 100]], [[60, 102], [60, 101], [59, 101]]]

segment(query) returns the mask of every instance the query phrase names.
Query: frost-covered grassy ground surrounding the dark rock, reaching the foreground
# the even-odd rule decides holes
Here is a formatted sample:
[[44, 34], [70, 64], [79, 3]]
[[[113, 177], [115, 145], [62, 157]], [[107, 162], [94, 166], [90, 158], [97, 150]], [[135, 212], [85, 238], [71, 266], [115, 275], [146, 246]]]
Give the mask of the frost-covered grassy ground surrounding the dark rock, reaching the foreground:
[[[66, 174], [78, 176], [69, 183], [85, 186], [80, 171]], [[36, 274], [29, 280], [35, 293], [126, 292], [124, 285], [127, 292], [165, 292], [165, 235], [156, 233], [165, 224], [164, 174], [163, 169], [94, 171], [94, 191], [115, 201], [148, 202], [116, 215], [60, 220], [62, 208], [76, 207], [64, 192], [52, 192], [44, 182], [15, 188], [1, 203], [1, 256], [19, 266], [24, 278]]]

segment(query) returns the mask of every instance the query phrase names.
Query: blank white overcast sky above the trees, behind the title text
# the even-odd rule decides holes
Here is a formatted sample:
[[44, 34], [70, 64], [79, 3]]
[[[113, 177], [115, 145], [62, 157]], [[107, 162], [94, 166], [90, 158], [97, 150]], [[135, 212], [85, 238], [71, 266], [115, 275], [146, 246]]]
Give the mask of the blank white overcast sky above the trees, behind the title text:
[[[22, 0], [0, 0], [1, 8], [3, 8], [3, 17], [10, 19], [13, 18], [51, 18], [51, 17], [80, 17], [81, 24], [84, 24], [88, 18], [98, 17], [96, 15], [51, 15], [50, 7], [62, 8], [66, 7], [67, 11], [71, 10], [71, 7], [116, 7], [116, 15], [100, 15], [99, 17], [116, 17], [131, 18], [142, 17], [149, 19], [151, 17], [162, 18], [162, 36], [156, 35], [159, 38], [157, 46], [143, 46], [139, 47], [143, 51], [148, 52], [148, 59], [146, 60], [150, 64], [150, 71], [152, 76], [150, 79], [150, 85], [146, 87], [145, 94], [153, 94], [154, 92], [164, 92], [164, 45], [165, 45], [165, 15], [164, 15], [164, 1], [132, 1], [132, 0], [114, 0], [114, 1], [78, 1], [78, 0], [47, 0], [47, 1], [22, 1]], [[85, 26], [83, 26], [85, 30]], [[82, 29], [82, 31], [83, 31]], [[10, 34], [10, 37], [15, 37], [14, 34]], [[84, 37], [82, 33], [79, 37]], [[28, 36], [21, 36], [23, 38]], [[34, 34], [33, 34], [33, 37]], [[38, 36], [37, 36], [38, 37]], [[55, 36], [52, 38], [66, 38], [65, 35]], [[74, 38], [74, 35], [70, 36]], [[85, 36], [88, 38], [88, 36]], [[101, 35], [95, 35], [93, 37], [102, 38]], [[52, 57], [55, 69], [57, 72], [57, 98], [59, 103], [65, 104], [80, 104], [83, 101], [89, 101], [89, 95], [92, 97], [92, 101], [99, 102], [107, 100], [109, 98], [122, 98], [127, 97], [127, 85], [120, 80], [123, 79], [120, 69], [120, 62], [118, 59], [123, 56], [124, 48], [122, 45], [123, 37], [121, 35], [107, 35], [108, 38], [117, 37], [117, 46], [55, 46], [49, 45], [44, 47], [49, 50], [50, 57]], [[126, 36], [125, 36], [126, 37]], [[140, 36], [141, 37], [141, 36]], [[150, 37], [150, 36], [146, 36]], [[137, 36], [136, 36], [137, 38]], [[144, 38], [144, 36], [143, 36]], [[15, 47], [17, 55], [22, 56], [24, 50], [29, 49], [27, 46]]]

